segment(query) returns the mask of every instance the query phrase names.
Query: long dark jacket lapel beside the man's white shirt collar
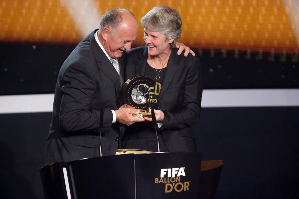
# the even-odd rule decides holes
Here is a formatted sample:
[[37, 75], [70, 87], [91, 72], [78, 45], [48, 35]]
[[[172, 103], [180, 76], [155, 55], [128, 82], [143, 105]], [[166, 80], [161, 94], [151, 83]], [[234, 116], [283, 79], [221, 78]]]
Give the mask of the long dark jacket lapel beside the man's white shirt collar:
[[[97, 31], [97, 30], [95, 30], [95, 31]], [[99, 44], [97, 44], [97, 41], [94, 38], [95, 31], [93, 31], [88, 36], [89, 41], [90, 41], [90, 46], [93, 51], [93, 55], [97, 61], [97, 65], [98, 65], [99, 69], [102, 72], [104, 72], [113, 82], [114, 87], [115, 87], [116, 96], [119, 99], [120, 90], [121, 90], [121, 85], [120, 85], [121, 82], [120, 82], [119, 75], [118, 75], [117, 71], [115, 70], [115, 68], [113, 67], [113, 64], [110, 62], [110, 60], [107, 58], [105, 53], [100, 48]]]

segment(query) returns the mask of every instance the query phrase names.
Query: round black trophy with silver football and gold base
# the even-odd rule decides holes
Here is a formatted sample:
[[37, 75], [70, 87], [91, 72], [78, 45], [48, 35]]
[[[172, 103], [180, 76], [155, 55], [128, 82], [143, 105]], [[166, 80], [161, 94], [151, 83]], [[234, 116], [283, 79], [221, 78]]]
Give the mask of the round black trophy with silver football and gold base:
[[129, 108], [139, 109], [139, 113], [133, 113], [135, 117], [151, 117], [150, 106], [147, 100], [150, 98], [150, 86], [154, 85], [154, 80], [147, 76], [136, 75], [128, 79], [122, 86], [124, 102]]

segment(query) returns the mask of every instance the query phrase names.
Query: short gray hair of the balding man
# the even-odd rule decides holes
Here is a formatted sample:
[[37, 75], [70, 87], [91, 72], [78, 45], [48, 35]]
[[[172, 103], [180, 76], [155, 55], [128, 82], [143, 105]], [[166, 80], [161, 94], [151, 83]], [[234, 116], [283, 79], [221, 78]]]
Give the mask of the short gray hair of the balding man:
[[114, 8], [105, 12], [105, 14], [102, 16], [102, 20], [99, 27], [100, 31], [102, 31], [104, 27], [108, 27], [109, 29], [112, 29], [110, 30], [112, 31], [112, 33], [115, 33], [114, 31], [118, 28], [122, 21], [122, 13], [120, 11], [129, 12], [135, 18], [135, 15], [128, 9]]

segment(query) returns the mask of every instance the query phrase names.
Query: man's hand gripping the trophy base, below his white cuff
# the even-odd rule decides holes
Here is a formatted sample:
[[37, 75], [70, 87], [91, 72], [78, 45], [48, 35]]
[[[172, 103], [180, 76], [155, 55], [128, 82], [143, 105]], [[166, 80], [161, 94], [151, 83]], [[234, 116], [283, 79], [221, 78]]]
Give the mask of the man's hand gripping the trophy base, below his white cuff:
[[116, 121], [127, 126], [134, 124], [135, 122], [145, 121], [143, 118], [134, 117], [133, 113], [139, 113], [139, 109], [130, 109], [122, 105], [118, 110], [115, 111]]

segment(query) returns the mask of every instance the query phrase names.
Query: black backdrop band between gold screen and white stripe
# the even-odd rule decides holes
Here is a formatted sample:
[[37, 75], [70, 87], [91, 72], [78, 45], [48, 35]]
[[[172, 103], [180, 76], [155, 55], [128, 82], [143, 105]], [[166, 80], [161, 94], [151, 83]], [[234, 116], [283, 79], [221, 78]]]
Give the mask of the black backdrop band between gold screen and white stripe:
[[[76, 45], [0, 43], [0, 95], [54, 93], [59, 69]], [[205, 89], [299, 88], [292, 55], [193, 49], [202, 62]], [[13, 56], [12, 56], [13, 55]], [[225, 55], [225, 56], [224, 56]], [[12, 81], [13, 80], [13, 81]]]

